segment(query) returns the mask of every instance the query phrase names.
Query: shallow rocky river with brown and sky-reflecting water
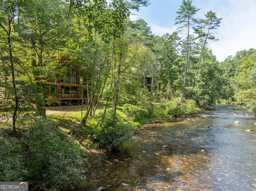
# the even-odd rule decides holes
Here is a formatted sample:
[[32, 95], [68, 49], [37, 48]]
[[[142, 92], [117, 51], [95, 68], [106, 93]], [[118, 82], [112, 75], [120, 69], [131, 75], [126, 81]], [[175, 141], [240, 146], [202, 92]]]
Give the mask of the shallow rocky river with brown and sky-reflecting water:
[[216, 105], [143, 126], [121, 152], [93, 155], [84, 190], [256, 191], [256, 131], [246, 131], [256, 130], [256, 118], [246, 113]]

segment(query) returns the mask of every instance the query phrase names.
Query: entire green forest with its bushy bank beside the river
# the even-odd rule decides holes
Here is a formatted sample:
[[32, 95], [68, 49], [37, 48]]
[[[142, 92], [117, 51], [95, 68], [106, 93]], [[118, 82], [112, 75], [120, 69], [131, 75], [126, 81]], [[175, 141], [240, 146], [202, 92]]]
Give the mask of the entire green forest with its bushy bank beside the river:
[[[183, 0], [178, 30], [158, 36], [129, 16], [149, 0], [0, 1], [0, 181], [35, 190], [77, 189], [89, 164], [84, 146], [118, 150], [133, 129], [213, 104], [256, 113], [256, 50], [223, 62], [209, 42], [222, 18]], [[49, 79], [79, 71], [78, 117], [46, 116], [66, 105]], [[74, 126], [74, 127], [70, 127]], [[81, 141], [82, 140], [82, 141]]]

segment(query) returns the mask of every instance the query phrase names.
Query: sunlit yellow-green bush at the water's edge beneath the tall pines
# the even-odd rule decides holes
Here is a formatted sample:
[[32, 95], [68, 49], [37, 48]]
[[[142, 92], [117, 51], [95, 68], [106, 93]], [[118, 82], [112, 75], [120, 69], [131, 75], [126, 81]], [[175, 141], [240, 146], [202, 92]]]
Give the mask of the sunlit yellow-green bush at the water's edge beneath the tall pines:
[[167, 102], [166, 113], [168, 115], [178, 116], [180, 114], [196, 113], [199, 110], [195, 100], [184, 99], [181, 104], [179, 104], [179, 100], [179, 98], [174, 98]]

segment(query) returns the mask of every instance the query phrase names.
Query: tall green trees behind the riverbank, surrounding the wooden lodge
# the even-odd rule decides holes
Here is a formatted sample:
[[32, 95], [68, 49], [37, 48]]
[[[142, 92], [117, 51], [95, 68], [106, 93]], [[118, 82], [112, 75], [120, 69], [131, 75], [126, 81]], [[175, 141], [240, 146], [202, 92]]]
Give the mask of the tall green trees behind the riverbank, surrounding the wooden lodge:
[[[158, 36], [144, 20], [131, 21], [132, 10], [149, 0], [2, 0], [0, 2], [0, 93], [3, 109], [13, 108], [16, 131], [19, 104], [45, 116], [46, 80], [63, 73], [63, 56], [84, 69], [88, 102], [82, 124], [104, 101], [139, 109], [152, 102], [195, 100], [204, 108], [226, 99], [255, 111], [255, 50], [238, 52], [219, 63], [208, 42], [222, 18], [182, 0], [174, 18], [178, 30]], [[249, 81], [248, 81], [249, 79]]]

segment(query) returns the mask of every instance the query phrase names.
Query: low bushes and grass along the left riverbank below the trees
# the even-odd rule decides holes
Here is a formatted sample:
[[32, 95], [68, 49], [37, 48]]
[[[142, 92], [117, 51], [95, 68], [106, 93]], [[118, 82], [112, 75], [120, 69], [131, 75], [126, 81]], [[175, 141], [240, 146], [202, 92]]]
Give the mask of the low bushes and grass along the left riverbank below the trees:
[[[18, 132], [11, 135], [11, 113], [1, 112], [0, 172], [1, 181], [28, 180], [34, 190], [74, 190], [86, 183], [90, 152], [86, 148], [118, 151], [132, 137], [132, 132], [148, 120], [171, 118], [196, 112], [193, 100], [172, 100], [151, 104], [148, 109], [124, 104], [116, 116], [107, 111], [99, 125], [102, 108], [82, 126], [81, 111], [62, 115], [35, 116], [32, 111], [18, 112]], [[128, 120], [126, 120], [129, 117]]]

